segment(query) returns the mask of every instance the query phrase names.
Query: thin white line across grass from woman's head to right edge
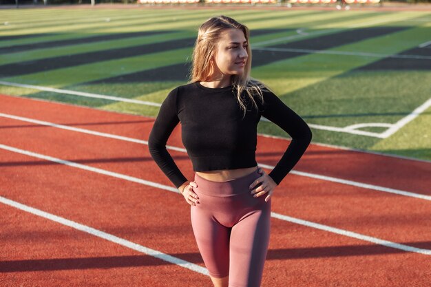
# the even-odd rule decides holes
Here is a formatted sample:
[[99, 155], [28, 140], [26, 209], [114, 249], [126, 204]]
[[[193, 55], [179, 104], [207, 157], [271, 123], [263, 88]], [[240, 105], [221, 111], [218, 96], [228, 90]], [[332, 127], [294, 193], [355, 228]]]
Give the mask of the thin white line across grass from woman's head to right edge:
[[404, 55], [404, 54], [377, 54], [377, 53], [364, 53], [364, 52], [348, 52], [348, 51], [333, 51], [333, 50], [311, 50], [311, 49], [290, 49], [290, 48], [277, 48], [277, 47], [260, 47], [253, 50], [274, 51], [274, 52], [293, 52], [293, 53], [315, 53], [315, 54], [330, 54], [330, 55], [344, 55], [344, 56], [368, 56], [376, 58], [395, 58], [395, 59], [423, 59], [431, 60], [431, 56], [421, 55]]

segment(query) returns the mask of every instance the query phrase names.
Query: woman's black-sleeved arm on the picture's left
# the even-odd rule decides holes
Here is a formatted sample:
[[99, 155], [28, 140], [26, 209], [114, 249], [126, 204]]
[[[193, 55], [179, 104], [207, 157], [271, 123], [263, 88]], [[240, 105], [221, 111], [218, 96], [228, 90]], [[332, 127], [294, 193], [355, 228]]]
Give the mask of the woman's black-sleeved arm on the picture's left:
[[[148, 149], [158, 167], [165, 173], [177, 189], [185, 185], [187, 178], [182, 174], [166, 149], [172, 131], [180, 122], [177, 114], [176, 99], [178, 88], [173, 89], [163, 101], [156, 121], [149, 134]], [[180, 190], [181, 191], [181, 190]]]

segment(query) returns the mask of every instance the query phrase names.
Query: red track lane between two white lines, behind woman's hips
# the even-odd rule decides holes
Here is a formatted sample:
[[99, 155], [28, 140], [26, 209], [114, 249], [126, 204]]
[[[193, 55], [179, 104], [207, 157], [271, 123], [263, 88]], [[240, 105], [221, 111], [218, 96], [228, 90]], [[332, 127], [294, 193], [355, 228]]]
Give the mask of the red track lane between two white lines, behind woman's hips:
[[[14, 122], [3, 120], [3, 126], [14, 126]], [[158, 171], [147, 149], [133, 142], [77, 134], [53, 127], [41, 127], [36, 131], [31, 127], [14, 127], [8, 131], [10, 136], [1, 142], [5, 145], [172, 185]], [[32, 140], [23, 142], [23, 138]], [[188, 158], [178, 151], [171, 154], [181, 169], [186, 171], [187, 178], [192, 179], [193, 171]], [[36, 167], [41, 164], [56, 165], [36, 158], [27, 164]], [[12, 161], [5, 165], [19, 167], [22, 164]], [[273, 205], [276, 213], [400, 243], [421, 242], [424, 228], [431, 230], [428, 220], [430, 202], [294, 175], [286, 179], [277, 187], [277, 200]], [[395, 222], [399, 224], [396, 230], [388, 228], [388, 223]]]

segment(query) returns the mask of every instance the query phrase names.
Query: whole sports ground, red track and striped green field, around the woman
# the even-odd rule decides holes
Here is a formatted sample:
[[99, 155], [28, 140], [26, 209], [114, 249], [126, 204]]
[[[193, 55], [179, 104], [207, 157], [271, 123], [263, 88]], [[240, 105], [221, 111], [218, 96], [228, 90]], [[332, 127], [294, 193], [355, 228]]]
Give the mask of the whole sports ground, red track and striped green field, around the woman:
[[[262, 287], [429, 286], [431, 10], [221, 6], [0, 9], [0, 286], [211, 286], [147, 140], [220, 14], [313, 129], [273, 195]], [[258, 131], [269, 173], [290, 140]]]

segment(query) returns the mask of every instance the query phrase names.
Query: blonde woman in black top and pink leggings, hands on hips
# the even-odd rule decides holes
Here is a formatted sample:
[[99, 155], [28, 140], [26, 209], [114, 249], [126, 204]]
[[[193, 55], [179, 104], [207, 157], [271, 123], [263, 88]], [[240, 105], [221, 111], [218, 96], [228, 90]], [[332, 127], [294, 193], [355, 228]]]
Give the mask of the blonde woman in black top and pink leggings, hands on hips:
[[[191, 81], [169, 92], [149, 136], [149, 151], [191, 205], [191, 224], [215, 287], [260, 286], [269, 244], [271, 195], [311, 142], [311, 131], [271, 90], [250, 77], [249, 30], [229, 17], [203, 23]], [[260, 116], [291, 144], [267, 174], [257, 167]], [[181, 123], [194, 181], [166, 149]]]

